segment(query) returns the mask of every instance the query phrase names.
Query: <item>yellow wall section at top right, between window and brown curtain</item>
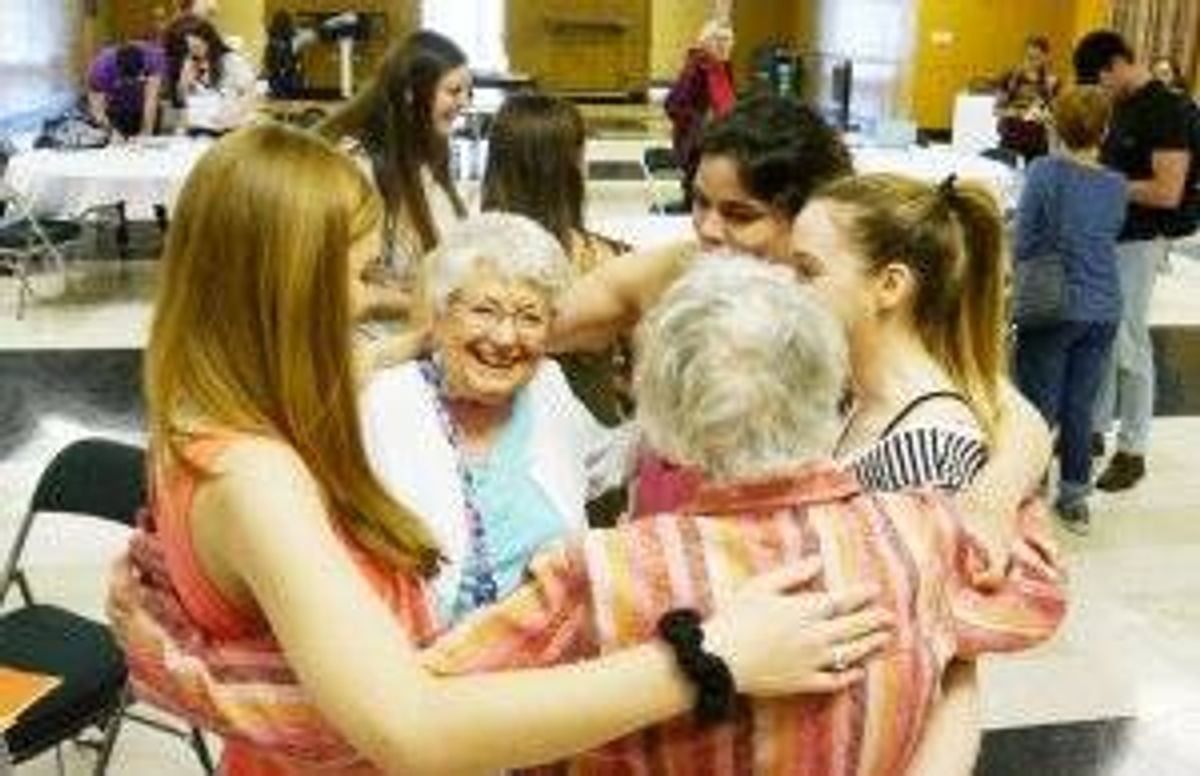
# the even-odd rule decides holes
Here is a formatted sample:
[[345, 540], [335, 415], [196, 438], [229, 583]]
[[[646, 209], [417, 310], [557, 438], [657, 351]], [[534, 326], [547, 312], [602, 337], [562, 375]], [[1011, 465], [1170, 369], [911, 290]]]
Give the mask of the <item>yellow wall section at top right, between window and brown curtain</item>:
[[1020, 62], [1032, 34], [1050, 38], [1055, 70], [1066, 76], [1082, 18], [1076, 10], [1076, 0], [919, 0], [912, 78], [917, 124], [949, 127], [954, 96], [973, 78], [994, 78]]

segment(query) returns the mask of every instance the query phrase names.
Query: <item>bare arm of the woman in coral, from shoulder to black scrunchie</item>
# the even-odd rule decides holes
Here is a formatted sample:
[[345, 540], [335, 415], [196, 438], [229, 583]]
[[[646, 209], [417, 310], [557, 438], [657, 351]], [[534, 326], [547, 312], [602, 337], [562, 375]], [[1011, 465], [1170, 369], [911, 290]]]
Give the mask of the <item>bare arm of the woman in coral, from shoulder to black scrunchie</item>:
[[[248, 441], [218, 463], [196, 504], [202, 563], [227, 592], [245, 590], [322, 716], [384, 770], [530, 765], [686, 709], [688, 687], [655, 644], [559, 669], [434, 678], [358, 571], [294, 452]], [[353, 660], [347, 632], [358, 643]], [[534, 728], [535, 740], [514, 735]]]

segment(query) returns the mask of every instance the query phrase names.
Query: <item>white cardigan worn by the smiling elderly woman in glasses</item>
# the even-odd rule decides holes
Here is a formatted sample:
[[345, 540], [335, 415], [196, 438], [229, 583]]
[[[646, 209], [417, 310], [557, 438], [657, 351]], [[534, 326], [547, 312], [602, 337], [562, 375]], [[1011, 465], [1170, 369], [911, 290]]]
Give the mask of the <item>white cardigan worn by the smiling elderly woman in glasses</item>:
[[[624, 482], [632, 465], [631, 427], [605, 428], [575, 397], [553, 360], [539, 365], [529, 392], [530, 476], [568, 533], [587, 528], [587, 500]], [[468, 551], [466, 501], [456, 452], [438, 417], [433, 390], [416, 363], [377, 373], [361, 401], [362, 437], [384, 487], [426, 522], [446, 557], [434, 582], [452, 600]]]

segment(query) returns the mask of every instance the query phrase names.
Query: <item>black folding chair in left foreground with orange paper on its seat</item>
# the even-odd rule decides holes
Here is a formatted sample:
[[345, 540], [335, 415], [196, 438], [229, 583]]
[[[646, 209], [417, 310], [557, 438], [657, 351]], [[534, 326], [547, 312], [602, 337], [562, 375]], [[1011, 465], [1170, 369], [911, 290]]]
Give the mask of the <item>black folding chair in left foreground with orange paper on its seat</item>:
[[89, 516], [132, 527], [145, 495], [144, 451], [107, 439], [76, 441], [42, 471], [0, 576], [0, 608], [12, 588], [22, 600], [18, 608], [0, 615], [0, 666], [62, 681], [4, 734], [13, 763], [55, 748], [61, 774], [61, 745], [95, 726], [102, 732], [100, 741], [92, 744], [97, 748], [94, 774], [100, 776], [112, 758], [122, 720], [130, 717], [187, 740], [204, 771], [214, 772], [212, 758], [197, 728], [179, 730], [126, 710], [133, 697], [125, 656], [108, 626], [36, 602], [20, 566], [35, 518]]

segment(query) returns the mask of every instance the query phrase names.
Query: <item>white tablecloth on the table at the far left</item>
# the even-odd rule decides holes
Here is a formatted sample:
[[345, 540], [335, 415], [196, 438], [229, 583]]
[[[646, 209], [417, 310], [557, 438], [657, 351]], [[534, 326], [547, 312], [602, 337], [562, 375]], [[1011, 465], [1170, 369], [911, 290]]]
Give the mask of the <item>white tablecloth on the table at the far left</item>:
[[35, 150], [8, 162], [5, 180], [40, 215], [72, 216], [96, 205], [125, 203], [134, 219], [175, 201], [209, 140], [154, 138], [78, 151]]

